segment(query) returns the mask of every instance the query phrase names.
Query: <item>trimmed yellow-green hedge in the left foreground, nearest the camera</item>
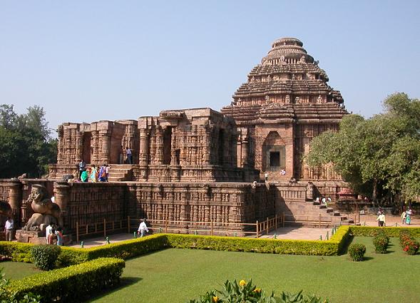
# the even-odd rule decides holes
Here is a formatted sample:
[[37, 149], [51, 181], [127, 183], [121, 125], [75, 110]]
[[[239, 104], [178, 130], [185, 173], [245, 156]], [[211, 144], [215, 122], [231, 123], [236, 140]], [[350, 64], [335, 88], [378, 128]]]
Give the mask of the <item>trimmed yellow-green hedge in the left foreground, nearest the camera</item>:
[[125, 266], [121, 259], [98, 258], [13, 281], [10, 288], [17, 297], [39, 294], [42, 302], [81, 302], [92, 292], [118, 284]]

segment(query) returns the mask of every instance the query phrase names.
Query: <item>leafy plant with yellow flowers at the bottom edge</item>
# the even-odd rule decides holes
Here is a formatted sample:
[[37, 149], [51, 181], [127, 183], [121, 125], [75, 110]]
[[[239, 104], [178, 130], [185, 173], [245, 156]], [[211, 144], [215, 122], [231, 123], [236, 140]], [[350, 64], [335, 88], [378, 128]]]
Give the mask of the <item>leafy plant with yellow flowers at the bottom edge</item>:
[[206, 292], [200, 299], [193, 299], [189, 303], [327, 303], [327, 299], [302, 294], [302, 290], [296, 294], [282, 292], [280, 297], [275, 297], [274, 292], [268, 294], [261, 288], [252, 284], [252, 280], [245, 282], [241, 280], [239, 284], [234, 280], [227, 280], [221, 290], [212, 289]]

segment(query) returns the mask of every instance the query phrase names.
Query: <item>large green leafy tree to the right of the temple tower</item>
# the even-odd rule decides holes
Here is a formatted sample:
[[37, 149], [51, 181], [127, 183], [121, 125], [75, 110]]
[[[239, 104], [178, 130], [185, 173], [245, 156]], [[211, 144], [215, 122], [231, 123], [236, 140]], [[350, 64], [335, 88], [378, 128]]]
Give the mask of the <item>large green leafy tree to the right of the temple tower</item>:
[[378, 202], [420, 196], [420, 101], [406, 93], [384, 100], [384, 113], [346, 115], [337, 133], [312, 140], [307, 162], [334, 163], [356, 191]]

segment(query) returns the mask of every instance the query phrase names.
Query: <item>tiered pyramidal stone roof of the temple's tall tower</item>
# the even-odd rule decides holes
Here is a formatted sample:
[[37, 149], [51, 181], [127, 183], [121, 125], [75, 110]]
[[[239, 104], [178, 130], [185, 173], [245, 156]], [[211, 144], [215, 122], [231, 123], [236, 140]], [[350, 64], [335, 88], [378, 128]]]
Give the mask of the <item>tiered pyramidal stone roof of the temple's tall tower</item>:
[[[232, 115], [239, 124], [257, 123], [268, 112], [273, 118], [310, 119], [329, 113], [334, 120], [340, 119], [347, 113], [344, 101], [328, 81], [327, 73], [303, 48], [302, 41], [280, 38], [252, 68], [247, 82], [237, 89], [231, 105], [222, 108], [222, 113]], [[312, 114], [307, 115], [309, 112]]]

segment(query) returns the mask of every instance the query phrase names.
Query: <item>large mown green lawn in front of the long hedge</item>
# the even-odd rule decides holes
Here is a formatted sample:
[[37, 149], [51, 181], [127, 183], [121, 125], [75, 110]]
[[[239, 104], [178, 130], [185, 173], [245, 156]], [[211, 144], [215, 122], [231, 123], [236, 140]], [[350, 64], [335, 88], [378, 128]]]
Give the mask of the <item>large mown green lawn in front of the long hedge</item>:
[[185, 302], [220, 288], [226, 279], [251, 278], [263, 289], [304, 289], [332, 303], [420, 301], [420, 255], [405, 255], [396, 238], [386, 255], [374, 253], [371, 237], [356, 237], [353, 242], [367, 246], [364, 262], [352, 262], [347, 255], [163, 250], [128, 260], [123, 285], [91, 302]]

